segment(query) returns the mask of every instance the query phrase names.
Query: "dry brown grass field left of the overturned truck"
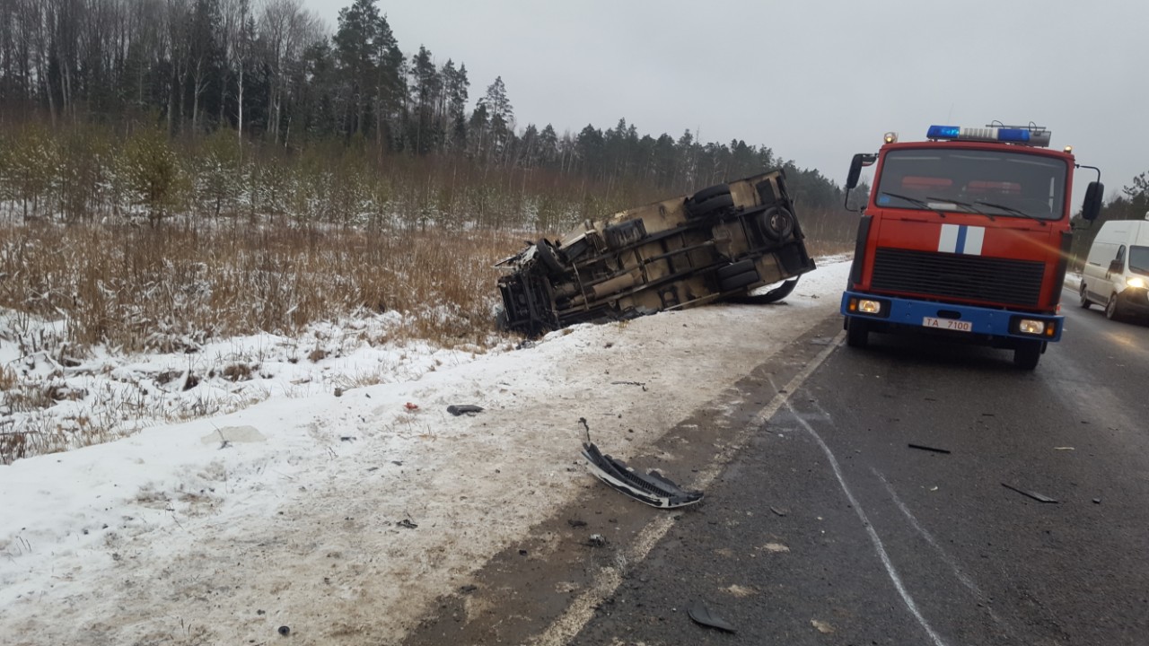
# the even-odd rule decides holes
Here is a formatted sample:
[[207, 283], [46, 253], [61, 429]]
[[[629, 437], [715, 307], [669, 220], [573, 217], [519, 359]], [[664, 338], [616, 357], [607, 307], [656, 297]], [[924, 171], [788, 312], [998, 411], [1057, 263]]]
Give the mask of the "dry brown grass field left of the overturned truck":
[[506, 232], [9, 225], [0, 307], [67, 318], [65, 352], [193, 351], [361, 309], [403, 312], [410, 338], [452, 347], [491, 332], [492, 264], [520, 245]]

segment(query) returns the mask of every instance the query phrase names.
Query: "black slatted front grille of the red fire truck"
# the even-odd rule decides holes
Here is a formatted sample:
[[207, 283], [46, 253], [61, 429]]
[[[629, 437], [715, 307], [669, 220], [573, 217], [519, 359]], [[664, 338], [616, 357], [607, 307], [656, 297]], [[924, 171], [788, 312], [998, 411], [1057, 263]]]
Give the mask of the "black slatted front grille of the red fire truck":
[[881, 291], [1035, 307], [1044, 271], [1044, 264], [1036, 261], [879, 248], [870, 285]]

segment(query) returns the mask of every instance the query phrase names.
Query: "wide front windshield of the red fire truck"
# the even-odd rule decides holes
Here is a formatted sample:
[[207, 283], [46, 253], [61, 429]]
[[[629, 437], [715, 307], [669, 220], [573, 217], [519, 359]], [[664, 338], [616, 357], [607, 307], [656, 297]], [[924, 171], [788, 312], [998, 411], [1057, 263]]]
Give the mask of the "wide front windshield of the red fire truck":
[[1069, 170], [1064, 160], [1025, 152], [889, 151], [877, 183], [876, 203], [881, 208], [1059, 220]]

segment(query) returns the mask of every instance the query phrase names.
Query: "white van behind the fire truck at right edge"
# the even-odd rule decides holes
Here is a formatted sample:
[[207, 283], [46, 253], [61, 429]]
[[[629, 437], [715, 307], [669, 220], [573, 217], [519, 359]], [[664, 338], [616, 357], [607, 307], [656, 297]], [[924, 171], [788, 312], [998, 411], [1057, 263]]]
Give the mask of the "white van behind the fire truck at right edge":
[[1081, 307], [1105, 306], [1105, 316], [1149, 316], [1149, 213], [1146, 220], [1109, 221], [1097, 231], [1081, 268]]

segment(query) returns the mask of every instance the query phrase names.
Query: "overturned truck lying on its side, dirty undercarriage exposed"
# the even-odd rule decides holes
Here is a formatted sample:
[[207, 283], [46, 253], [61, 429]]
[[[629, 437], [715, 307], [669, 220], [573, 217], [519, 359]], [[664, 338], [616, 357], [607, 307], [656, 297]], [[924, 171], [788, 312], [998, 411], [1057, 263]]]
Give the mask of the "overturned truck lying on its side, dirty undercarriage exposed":
[[803, 238], [781, 170], [627, 209], [501, 261], [512, 271], [499, 279], [498, 324], [533, 337], [716, 301], [774, 302], [815, 268]]

